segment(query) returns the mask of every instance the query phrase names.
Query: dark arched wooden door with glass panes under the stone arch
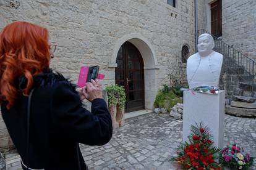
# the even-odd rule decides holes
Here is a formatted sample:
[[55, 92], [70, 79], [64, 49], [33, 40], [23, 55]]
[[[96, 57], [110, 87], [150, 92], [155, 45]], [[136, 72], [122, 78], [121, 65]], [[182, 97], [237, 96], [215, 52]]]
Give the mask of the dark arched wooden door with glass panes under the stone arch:
[[139, 50], [132, 43], [124, 42], [117, 53], [116, 63], [116, 84], [126, 90], [126, 112], [144, 109], [144, 63]]

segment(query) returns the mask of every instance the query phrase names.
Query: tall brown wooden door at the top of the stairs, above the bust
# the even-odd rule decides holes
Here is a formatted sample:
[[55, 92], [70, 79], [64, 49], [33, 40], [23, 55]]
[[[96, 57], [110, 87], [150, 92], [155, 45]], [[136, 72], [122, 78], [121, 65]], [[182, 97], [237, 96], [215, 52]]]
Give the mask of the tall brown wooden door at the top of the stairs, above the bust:
[[211, 4], [211, 34], [222, 36], [222, 4], [221, 0]]

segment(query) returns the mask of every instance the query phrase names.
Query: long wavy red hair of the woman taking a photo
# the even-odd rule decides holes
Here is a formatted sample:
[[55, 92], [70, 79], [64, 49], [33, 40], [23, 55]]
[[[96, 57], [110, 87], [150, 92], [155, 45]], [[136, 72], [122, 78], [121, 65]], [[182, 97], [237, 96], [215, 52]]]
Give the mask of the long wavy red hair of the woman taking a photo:
[[49, 68], [48, 30], [28, 22], [13, 22], [0, 33], [0, 103], [14, 105], [19, 93], [15, 80], [25, 76], [28, 83], [22, 89], [28, 95], [33, 75]]

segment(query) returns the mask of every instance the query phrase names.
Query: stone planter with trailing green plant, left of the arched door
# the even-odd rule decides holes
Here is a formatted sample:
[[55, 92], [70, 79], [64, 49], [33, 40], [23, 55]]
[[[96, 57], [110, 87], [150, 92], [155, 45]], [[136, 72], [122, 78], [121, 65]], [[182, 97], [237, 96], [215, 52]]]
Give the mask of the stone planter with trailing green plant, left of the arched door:
[[113, 128], [124, 125], [124, 106], [126, 103], [126, 93], [124, 87], [111, 84], [106, 87], [108, 93], [108, 105], [111, 113]]

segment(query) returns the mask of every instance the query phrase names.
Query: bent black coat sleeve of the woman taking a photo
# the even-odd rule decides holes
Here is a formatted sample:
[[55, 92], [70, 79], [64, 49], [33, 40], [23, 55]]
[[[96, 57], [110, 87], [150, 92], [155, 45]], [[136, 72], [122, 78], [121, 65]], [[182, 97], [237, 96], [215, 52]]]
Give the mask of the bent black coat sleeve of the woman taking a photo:
[[112, 137], [112, 121], [105, 100], [92, 101], [92, 113], [82, 107], [79, 95], [62, 81], [53, 89], [51, 118], [54, 126], [77, 142], [104, 145]]

